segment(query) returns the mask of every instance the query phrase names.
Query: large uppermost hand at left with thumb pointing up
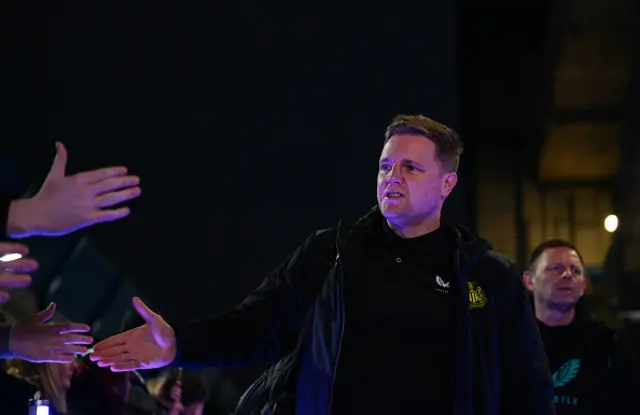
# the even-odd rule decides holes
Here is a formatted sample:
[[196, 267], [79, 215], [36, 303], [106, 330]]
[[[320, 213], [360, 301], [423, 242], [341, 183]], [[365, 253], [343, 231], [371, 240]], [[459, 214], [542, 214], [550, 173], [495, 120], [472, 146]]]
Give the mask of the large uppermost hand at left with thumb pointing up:
[[125, 167], [106, 167], [66, 176], [67, 150], [56, 143], [56, 157], [37, 195], [14, 200], [7, 233], [12, 238], [60, 236], [124, 218], [129, 208], [106, 209], [140, 195], [140, 179]]

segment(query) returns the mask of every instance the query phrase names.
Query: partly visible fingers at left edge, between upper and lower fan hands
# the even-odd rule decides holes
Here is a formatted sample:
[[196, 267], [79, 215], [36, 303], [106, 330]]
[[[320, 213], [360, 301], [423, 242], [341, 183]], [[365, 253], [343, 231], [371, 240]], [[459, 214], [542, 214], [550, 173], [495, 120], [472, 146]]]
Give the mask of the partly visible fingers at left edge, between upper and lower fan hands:
[[0, 261], [0, 304], [9, 301], [9, 293], [4, 291], [11, 288], [24, 288], [31, 284], [31, 277], [27, 275], [38, 268], [38, 263], [25, 258], [29, 252], [24, 245], [11, 242], [0, 242], [0, 258], [7, 254], [20, 254], [22, 258], [13, 261]]

